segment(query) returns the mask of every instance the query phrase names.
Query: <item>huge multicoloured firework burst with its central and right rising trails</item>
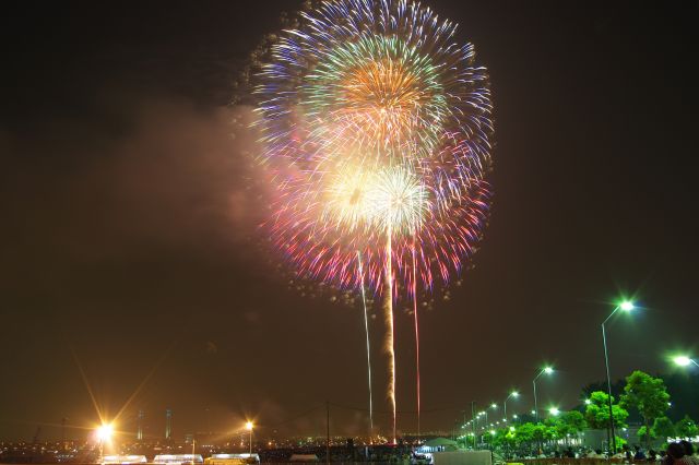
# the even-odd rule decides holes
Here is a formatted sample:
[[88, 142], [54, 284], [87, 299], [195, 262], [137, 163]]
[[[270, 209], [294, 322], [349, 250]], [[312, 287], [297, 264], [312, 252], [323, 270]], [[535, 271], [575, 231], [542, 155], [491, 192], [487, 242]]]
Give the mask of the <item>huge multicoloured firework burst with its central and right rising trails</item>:
[[419, 410], [417, 298], [464, 270], [487, 222], [489, 84], [419, 3], [309, 4], [253, 78], [265, 227], [303, 277], [383, 297], [395, 439], [393, 300], [413, 300]]

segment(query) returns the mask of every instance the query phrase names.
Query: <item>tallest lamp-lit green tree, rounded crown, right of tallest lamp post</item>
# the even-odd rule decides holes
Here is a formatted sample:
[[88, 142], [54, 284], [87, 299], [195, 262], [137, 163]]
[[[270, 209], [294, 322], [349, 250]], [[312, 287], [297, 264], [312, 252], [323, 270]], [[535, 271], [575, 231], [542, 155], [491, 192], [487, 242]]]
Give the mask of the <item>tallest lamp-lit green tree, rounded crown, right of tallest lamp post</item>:
[[[626, 378], [621, 405], [636, 408], [643, 418], [645, 431], [652, 434], [651, 426], [655, 419], [665, 415], [670, 403], [670, 394], [660, 378], [653, 378], [643, 371], [636, 370]], [[645, 445], [650, 446], [650, 436], [645, 434]]]

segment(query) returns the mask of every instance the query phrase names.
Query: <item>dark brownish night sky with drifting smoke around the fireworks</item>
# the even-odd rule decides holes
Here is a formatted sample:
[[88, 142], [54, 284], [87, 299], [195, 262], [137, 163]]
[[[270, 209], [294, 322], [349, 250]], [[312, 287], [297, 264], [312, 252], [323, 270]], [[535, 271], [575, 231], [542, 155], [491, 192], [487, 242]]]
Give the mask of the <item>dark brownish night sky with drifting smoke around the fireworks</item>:
[[[643, 308], [609, 324], [614, 378], [699, 355], [697, 2], [426, 3], [489, 69], [497, 146], [475, 267], [422, 314], [423, 430], [511, 386], [524, 396], [510, 408], [530, 409], [544, 361], [559, 371], [540, 405], [573, 406], [604, 377], [600, 323], [621, 295]], [[297, 8], [2, 5], [0, 438], [94, 425], [79, 366], [111, 416], [146, 380], [120, 429], [142, 408], [152, 437], [166, 407], [176, 437], [245, 416], [261, 434], [323, 433], [322, 412], [293, 418], [325, 400], [366, 407], [362, 312], [288, 288], [254, 227], [246, 109], [227, 106], [247, 53]], [[400, 312], [408, 412], [411, 324]], [[333, 409], [337, 433], [365, 425]], [[414, 431], [414, 415], [399, 428]]]

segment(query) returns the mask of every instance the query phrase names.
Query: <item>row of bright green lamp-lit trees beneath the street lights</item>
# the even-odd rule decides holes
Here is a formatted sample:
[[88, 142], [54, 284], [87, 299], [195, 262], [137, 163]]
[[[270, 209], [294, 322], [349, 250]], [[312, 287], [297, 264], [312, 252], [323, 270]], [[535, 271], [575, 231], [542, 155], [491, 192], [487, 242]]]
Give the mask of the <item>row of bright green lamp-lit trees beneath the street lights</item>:
[[[592, 392], [584, 405], [569, 412], [552, 415], [543, 421], [523, 421], [508, 425], [497, 430], [483, 431], [481, 440], [495, 448], [508, 450], [531, 446], [533, 444], [568, 443], [570, 439], [585, 429], [607, 429], [609, 427], [609, 396], [603, 391]], [[621, 430], [627, 427], [629, 409], [637, 412], [643, 426], [638, 436], [650, 446], [652, 439], [660, 438], [692, 438], [699, 433], [696, 422], [685, 416], [673, 424], [667, 418], [670, 394], [661, 378], [653, 378], [642, 371], [633, 371], [626, 378], [626, 385], [619, 402], [612, 397], [612, 413], [615, 428]], [[461, 438], [465, 444], [473, 437]], [[625, 440], [617, 438], [617, 444]]]

